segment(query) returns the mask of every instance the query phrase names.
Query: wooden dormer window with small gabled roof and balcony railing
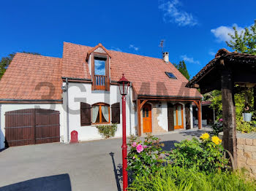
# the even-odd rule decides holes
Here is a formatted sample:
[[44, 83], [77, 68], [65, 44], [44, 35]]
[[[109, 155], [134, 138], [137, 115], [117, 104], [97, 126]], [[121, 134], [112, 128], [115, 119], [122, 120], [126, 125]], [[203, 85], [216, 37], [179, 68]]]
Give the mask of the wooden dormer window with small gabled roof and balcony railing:
[[102, 44], [92, 48], [87, 55], [87, 61], [91, 59], [92, 90], [110, 90], [110, 53]]

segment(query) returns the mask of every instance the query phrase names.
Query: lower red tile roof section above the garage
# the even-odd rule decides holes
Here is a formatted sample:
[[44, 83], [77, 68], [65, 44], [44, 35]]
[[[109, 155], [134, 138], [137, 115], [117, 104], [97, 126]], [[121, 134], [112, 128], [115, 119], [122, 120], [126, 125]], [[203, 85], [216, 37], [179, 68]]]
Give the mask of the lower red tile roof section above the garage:
[[60, 100], [61, 58], [17, 53], [0, 81], [0, 99]]

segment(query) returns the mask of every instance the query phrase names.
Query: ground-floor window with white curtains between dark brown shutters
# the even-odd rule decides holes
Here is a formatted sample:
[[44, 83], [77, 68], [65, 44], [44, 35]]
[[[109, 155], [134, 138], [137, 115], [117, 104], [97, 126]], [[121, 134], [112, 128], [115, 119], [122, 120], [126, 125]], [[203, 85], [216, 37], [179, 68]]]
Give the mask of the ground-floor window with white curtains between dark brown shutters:
[[91, 106], [92, 123], [109, 123], [110, 107], [108, 104], [94, 104]]

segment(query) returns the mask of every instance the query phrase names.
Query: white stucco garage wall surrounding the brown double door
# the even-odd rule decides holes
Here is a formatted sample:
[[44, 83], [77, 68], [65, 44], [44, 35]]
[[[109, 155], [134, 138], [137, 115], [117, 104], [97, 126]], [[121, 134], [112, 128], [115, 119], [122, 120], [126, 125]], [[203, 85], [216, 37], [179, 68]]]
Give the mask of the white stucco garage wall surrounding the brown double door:
[[[1, 104], [0, 117], [1, 117], [1, 132], [0, 132], [0, 148], [4, 148], [4, 136], [5, 136], [5, 112], [10, 112], [18, 109], [53, 109], [59, 111], [60, 117], [60, 136], [63, 138], [66, 128], [66, 116], [62, 104]], [[62, 141], [62, 140], [60, 140]]]

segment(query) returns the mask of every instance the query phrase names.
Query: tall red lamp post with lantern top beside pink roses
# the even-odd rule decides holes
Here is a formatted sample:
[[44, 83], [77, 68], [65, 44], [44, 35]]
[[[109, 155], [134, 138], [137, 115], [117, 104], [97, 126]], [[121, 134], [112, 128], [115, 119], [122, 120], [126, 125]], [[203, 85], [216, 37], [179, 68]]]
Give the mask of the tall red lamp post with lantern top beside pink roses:
[[126, 190], [128, 187], [128, 174], [127, 174], [127, 129], [126, 129], [126, 98], [125, 95], [128, 93], [130, 82], [124, 77], [121, 77], [118, 81], [118, 86], [120, 94], [122, 95], [122, 122], [123, 122], [123, 144], [122, 149], [122, 158], [123, 158], [123, 190]]

